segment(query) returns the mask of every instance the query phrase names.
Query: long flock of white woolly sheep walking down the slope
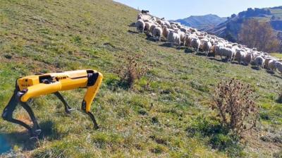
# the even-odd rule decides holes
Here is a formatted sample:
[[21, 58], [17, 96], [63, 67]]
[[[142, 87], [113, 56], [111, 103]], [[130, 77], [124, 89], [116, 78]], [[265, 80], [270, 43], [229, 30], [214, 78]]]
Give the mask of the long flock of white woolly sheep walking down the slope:
[[168, 22], [158, 19], [147, 13], [139, 13], [135, 26], [139, 32], [152, 35], [156, 41], [164, 37], [167, 42], [180, 47], [188, 47], [195, 51], [204, 51], [207, 55], [224, 57], [226, 61], [237, 61], [248, 66], [252, 64], [257, 68], [266, 68], [273, 73], [277, 70], [282, 73], [282, 61], [270, 56], [266, 52], [250, 49], [245, 45], [228, 42], [226, 39], [208, 35], [207, 32], [198, 31], [195, 28], [188, 28], [180, 23]]

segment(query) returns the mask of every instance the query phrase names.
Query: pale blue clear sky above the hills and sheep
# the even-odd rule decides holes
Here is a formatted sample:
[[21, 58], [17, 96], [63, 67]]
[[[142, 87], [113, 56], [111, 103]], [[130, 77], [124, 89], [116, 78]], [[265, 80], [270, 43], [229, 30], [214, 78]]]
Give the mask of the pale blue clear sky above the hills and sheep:
[[247, 8], [282, 6], [282, 0], [115, 0], [121, 4], [149, 10], [150, 13], [166, 20], [203, 16], [209, 13], [221, 17], [246, 11]]

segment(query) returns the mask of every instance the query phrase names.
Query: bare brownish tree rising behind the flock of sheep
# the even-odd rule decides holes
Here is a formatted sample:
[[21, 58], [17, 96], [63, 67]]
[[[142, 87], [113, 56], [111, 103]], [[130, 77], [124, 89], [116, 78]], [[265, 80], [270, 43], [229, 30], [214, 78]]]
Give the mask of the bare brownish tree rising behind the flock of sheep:
[[278, 51], [280, 42], [269, 23], [260, 23], [258, 20], [246, 20], [238, 34], [238, 42], [259, 51]]

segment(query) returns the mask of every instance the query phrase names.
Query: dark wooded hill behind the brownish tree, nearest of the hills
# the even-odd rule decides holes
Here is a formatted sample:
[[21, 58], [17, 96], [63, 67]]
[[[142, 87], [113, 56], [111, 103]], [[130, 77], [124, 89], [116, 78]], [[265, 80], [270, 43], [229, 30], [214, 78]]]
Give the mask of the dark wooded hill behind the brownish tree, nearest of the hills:
[[231, 17], [216, 25], [214, 28], [202, 28], [202, 30], [236, 42], [238, 32], [245, 20], [255, 18], [260, 22], [269, 22], [282, 40], [282, 6], [274, 8], [247, 8], [247, 11], [233, 14]]

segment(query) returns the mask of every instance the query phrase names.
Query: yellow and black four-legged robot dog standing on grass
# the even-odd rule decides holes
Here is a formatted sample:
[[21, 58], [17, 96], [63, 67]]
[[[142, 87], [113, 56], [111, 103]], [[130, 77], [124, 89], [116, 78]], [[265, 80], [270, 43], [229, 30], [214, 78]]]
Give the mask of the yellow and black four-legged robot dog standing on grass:
[[[39, 128], [35, 114], [27, 104], [27, 101], [40, 95], [54, 94], [61, 100], [61, 102], [63, 102], [66, 113], [70, 114], [72, 109], [68, 106], [68, 103], [65, 99], [63, 99], [63, 96], [59, 93], [59, 91], [87, 88], [81, 109], [90, 116], [94, 123], [94, 128], [97, 129], [99, 127], [93, 114], [90, 112], [90, 106], [94, 97], [97, 95], [97, 91], [102, 83], [102, 78], [102, 73], [94, 70], [46, 73], [18, 78], [18, 80], [16, 80], [16, 89], [13, 92], [10, 102], [8, 102], [8, 105], [3, 111], [2, 118], [6, 121], [17, 123], [20, 126], [27, 128], [31, 137], [37, 138], [41, 133], [41, 129]], [[32, 127], [23, 123], [23, 121], [13, 119], [13, 111], [15, 111], [18, 103], [20, 103], [20, 105], [30, 115], [30, 119], [33, 123]]]

